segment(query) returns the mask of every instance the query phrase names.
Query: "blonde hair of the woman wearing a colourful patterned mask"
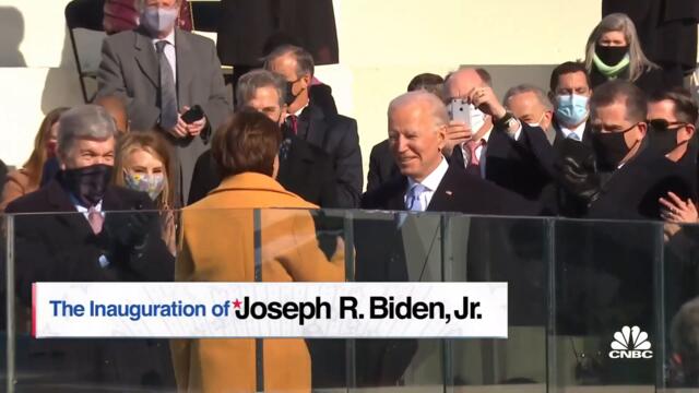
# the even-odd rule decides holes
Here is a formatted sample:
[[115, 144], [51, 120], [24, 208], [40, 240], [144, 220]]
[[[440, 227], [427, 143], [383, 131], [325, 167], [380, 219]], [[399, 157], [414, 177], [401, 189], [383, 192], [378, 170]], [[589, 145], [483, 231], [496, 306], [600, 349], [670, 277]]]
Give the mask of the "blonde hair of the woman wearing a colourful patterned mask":
[[173, 160], [171, 148], [165, 138], [155, 131], [135, 131], [121, 136], [114, 163], [114, 183], [121, 187], [126, 186], [126, 180], [123, 179], [123, 163], [131, 153], [138, 150], [143, 150], [152, 154], [163, 163], [165, 184], [163, 192], [156, 200], [157, 207], [159, 210], [178, 207], [175, 206], [175, 193], [173, 192], [175, 184], [175, 170], [173, 170], [173, 168], [175, 163]]

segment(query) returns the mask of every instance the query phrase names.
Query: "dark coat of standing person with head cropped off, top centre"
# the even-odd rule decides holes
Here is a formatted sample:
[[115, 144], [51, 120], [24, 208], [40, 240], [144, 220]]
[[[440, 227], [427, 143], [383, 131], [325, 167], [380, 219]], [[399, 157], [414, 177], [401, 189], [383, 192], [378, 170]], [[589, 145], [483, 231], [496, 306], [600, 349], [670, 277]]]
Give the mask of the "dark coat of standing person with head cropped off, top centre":
[[257, 67], [272, 40], [305, 48], [316, 64], [339, 60], [331, 0], [223, 0], [221, 7], [217, 46], [224, 64]]

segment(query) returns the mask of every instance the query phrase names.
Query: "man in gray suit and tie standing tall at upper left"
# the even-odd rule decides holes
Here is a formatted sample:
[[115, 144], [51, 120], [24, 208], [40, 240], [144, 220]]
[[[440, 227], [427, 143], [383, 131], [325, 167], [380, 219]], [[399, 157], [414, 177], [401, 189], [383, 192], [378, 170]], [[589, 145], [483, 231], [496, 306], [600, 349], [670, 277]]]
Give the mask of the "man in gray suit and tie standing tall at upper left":
[[[98, 97], [127, 103], [131, 129], [161, 130], [176, 151], [178, 202], [197, 158], [230, 112], [214, 43], [176, 27], [180, 0], [138, 0], [141, 25], [105, 39]], [[203, 117], [182, 115], [199, 105]]]

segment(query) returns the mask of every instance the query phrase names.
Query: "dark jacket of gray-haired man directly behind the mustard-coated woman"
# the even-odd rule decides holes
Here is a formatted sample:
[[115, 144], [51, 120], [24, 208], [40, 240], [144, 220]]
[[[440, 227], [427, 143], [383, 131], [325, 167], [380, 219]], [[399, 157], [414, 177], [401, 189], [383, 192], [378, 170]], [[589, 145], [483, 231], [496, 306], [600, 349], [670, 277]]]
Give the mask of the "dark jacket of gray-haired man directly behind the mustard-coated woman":
[[[280, 163], [277, 181], [286, 190], [321, 207], [335, 207], [335, 179], [332, 162], [325, 152], [293, 136], [288, 157]], [[221, 176], [211, 155], [204, 152], [194, 166], [194, 178], [188, 204], [192, 204], [218, 187]]]

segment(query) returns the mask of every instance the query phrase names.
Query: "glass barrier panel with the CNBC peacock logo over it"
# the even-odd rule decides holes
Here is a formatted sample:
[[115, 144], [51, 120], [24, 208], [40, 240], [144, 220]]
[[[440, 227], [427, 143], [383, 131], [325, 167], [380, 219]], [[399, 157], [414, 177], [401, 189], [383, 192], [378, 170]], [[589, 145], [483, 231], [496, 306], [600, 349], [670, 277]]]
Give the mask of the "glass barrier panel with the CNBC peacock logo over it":
[[662, 224], [558, 219], [553, 238], [552, 388], [654, 392]]

